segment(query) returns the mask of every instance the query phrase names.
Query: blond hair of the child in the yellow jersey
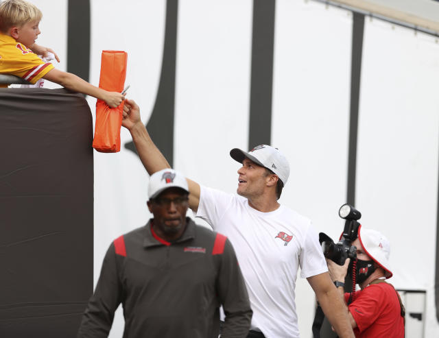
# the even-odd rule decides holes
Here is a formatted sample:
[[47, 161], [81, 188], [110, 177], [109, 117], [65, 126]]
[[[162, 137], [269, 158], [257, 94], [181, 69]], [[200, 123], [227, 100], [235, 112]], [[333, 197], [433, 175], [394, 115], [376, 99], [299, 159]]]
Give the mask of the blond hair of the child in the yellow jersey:
[[0, 3], [0, 31], [21, 27], [31, 21], [40, 21], [43, 13], [36, 5], [23, 0], [4, 0]]

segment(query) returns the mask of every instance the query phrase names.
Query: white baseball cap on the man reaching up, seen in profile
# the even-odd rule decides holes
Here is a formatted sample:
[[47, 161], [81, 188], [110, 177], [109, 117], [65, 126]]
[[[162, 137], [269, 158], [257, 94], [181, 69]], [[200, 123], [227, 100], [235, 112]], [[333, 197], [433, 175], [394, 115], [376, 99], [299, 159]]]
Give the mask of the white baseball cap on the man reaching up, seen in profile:
[[242, 163], [244, 158], [249, 158], [257, 165], [273, 171], [284, 186], [287, 183], [289, 176], [288, 160], [279, 149], [271, 145], [257, 145], [257, 147], [251, 149], [250, 152], [233, 148], [230, 150], [230, 156], [239, 163]]

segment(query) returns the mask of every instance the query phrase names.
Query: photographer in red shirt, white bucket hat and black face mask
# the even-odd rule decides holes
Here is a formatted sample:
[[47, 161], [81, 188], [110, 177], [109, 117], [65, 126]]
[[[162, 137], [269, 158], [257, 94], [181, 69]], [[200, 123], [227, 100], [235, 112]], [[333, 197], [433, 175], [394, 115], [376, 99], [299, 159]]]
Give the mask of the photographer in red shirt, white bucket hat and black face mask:
[[[385, 282], [392, 277], [389, 264], [390, 243], [381, 232], [359, 227], [352, 245], [357, 258], [343, 266], [327, 260], [331, 278], [344, 294], [344, 278], [350, 274], [361, 291], [344, 294], [355, 337], [403, 338], [404, 306], [394, 287]], [[350, 265], [351, 264], [351, 265]]]

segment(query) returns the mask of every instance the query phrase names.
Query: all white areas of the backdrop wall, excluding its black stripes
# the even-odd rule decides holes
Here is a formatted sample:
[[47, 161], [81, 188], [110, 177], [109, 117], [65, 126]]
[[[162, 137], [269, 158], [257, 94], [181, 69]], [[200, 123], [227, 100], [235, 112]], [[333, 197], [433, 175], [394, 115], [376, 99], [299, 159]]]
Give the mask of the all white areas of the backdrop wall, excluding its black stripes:
[[[43, 11], [38, 43], [56, 50], [62, 62], [55, 65], [65, 71], [67, 0], [31, 1]], [[99, 84], [103, 49], [128, 51], [128, 97], [141, 106], [144, 123], [161, 73], [165, 6], [154, 0], [91, 1], [90, 82]], [[292, 167], [281, 203], [334, 239], [342, 231], [337, 210], [347, 190], [351, 26], [351, 13], [344, 10], [276, 1], [272, 145]], [[229, 192], [236, 189], [239, 164], [228, 152], [248, 147], [251, 34], [251, 0], [179, 1], [175, 167]], [[439, 334], [433, 289], [438, 52], [431, 36], [366, 19], [356, 204], [361, 223], [392, 242], [395, 286], [427, 290], [425, 337]], [[94, 118], [95, 99], [88, 102]], [[147, 173], [123, 148], [130, 141], [126, 130], [121, 141], [118, 154], [95, 152], [95, 282], [111, 241], [150, 217]], [[298, 280], [296, 295], [300, 333], [311, 337], [314, 297], [306, 281]], [[110, 337], [122, 332], [119, 308]]]

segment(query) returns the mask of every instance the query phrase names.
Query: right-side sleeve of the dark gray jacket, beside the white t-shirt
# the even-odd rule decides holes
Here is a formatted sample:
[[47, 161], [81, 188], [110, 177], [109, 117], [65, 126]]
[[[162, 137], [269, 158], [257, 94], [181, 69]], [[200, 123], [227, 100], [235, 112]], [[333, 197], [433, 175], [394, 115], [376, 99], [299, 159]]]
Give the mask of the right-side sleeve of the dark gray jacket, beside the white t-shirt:
[[250, 330], [252, 309], [235, 250], [228, 239], [223, 254], [218, 257], [217, 292], [226, 315], [221, 337], [245, 338]]

